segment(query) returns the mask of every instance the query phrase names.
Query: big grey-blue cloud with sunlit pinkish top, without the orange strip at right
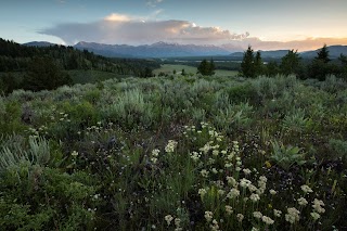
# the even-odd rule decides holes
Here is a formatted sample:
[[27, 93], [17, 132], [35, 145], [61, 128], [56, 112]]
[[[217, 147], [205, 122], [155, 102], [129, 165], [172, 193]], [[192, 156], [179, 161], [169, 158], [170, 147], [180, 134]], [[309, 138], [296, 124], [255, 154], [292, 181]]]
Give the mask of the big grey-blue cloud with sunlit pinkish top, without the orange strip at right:
[[[155, 14], [160, 11], [155, 12]], [[78, 41], [101, 43], [147, 44], [157, 41], [198, 44], [222, 44], [245, 39], [219, 27], [202, 27], [188, 21], [153, 21], [123, 14], [111, 14], [93, 23], [59, 24], [39, 31], [61, 38], [68, 44]]]

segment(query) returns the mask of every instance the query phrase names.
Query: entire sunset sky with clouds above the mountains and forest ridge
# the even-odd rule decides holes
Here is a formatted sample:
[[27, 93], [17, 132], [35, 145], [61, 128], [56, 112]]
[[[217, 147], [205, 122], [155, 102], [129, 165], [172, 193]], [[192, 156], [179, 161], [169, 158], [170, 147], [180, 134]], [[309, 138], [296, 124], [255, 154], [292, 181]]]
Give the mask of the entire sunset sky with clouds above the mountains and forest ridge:
[[347, 0], [3, 0], [0, 38], [18, 43], [347, 44]]

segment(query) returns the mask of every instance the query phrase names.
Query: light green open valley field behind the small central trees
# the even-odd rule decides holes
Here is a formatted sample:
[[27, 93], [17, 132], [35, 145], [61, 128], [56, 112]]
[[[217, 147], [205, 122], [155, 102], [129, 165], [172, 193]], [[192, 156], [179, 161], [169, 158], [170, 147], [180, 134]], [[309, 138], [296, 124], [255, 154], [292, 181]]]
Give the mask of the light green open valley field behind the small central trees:
[[[182, 69], [187, 74], [196, 74], [197, 68], [194, 66], [188, 66], [188, 65], [178, 65], [178, 64], [164, 64], [162, 65], [160, 68], [154, 69], [153, 73], [157, 76], [159, 73], [172, 75], [174, 70], [177, 72], [177, 74], [181, 74]], [[216, 69], [215, 76], [220, 76], [220, 77], [231, 77], [231, 76], [236, 76], [237, 72], [235, 70], [224, 70], [224, 69]]]

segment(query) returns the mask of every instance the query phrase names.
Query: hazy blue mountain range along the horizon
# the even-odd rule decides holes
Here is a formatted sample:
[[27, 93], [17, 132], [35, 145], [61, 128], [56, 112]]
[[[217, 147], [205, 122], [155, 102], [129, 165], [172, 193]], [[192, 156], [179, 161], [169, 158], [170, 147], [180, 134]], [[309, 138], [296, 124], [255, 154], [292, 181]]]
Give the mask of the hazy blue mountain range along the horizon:
[[[34, 41], [25, 46], [48, 47], [53, 43], [46, 41]], [[129, 46], [129, 44], [102, 44], [95, 42], [80, 41], [74, 46], [78, 50], [88, 50], [95, 54], [108, 57], [184, 57], [184, 56], [216, 56], [228, 55], [231, 57], [243, 57], [244, 50], [232, 44], [224, 46], [197, 46], [156, 42], [153, 44]], [[299, 52], [304, 59], [313, 59], [318, 50]], [[347, 46], [327, 47], [331, 59], [337, 59], [340, 54], [347, 55]], [[260, 51], [264, 59], [280, 59], [287, 54], [288, 50]]]

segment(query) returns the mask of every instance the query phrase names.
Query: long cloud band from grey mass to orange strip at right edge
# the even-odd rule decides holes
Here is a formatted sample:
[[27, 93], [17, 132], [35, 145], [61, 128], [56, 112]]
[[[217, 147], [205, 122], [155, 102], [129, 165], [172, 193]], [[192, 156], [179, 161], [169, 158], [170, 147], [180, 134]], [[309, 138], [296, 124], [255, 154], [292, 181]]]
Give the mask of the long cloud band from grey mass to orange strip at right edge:
[[93, 23], [59, 24], [39, 34], [61, 38], [67, 44], [79, 41], [107, 44], [152, 44], [164, 41], [182, 44], [215, 44], [240, 50], [250, 44], [255, 50], [317, 49], [326, 44], [347, 44], [347, 38], [308, 38], [297, 41], [262, 41], [248, 33], [235, 34], [219, 27], [202, 27], [188, 21], [145, 21], [112, 14]]

